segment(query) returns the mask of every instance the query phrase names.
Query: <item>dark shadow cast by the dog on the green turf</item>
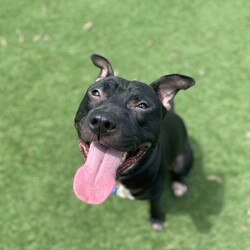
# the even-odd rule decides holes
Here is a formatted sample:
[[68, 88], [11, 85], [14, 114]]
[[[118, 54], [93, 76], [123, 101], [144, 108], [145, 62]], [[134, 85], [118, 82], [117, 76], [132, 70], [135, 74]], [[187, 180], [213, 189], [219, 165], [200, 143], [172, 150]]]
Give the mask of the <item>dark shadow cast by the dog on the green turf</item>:
[[211, 229], [211, 216], [218, 216], [224, 197], [223, 176], [219, 173], [206, 174], [203, 171], [203, 154], [200, 145], [191, 139], [195, 162], [186, 179], [188, 192], [181, 198], [174, 197], [170, 180], [165, 188], [164, 211], [168, 214], [189, 214], [200, 232]]

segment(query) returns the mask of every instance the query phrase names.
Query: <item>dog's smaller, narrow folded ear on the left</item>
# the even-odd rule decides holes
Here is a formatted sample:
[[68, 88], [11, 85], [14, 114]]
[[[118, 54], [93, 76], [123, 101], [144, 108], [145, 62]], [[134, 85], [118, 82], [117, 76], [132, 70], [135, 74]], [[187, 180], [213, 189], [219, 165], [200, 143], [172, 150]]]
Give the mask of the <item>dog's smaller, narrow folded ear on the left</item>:
[[104, 79], [105, 77], [108, 76], [114, 76], [114, 71], [112, 69], [112, 66], [106, 58], [100, 55], [93, 54], [91, 56], [91, 60], [95, 66], [101, 69], [99, 75], [96, 78], [96, 81]]

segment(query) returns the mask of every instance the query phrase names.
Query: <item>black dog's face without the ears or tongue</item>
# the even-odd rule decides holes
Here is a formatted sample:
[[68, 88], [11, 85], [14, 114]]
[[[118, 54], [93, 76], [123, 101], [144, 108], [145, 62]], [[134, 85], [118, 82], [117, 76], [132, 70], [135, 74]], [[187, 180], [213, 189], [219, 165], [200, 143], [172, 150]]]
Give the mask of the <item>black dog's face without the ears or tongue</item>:
[[127, 152], [131, 163], [155, 145], [164, 110], [153, 88], [144, 83], [110, 76], [92, 84], [75, 118], [84, 157], [89, 145], [98, 141]]

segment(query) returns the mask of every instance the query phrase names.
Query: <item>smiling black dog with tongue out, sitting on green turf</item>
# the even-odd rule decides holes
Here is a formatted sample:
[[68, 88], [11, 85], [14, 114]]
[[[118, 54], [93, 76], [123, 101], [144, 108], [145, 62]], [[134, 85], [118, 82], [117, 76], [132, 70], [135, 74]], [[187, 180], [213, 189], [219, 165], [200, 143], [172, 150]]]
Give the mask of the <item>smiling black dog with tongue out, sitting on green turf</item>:
[[194, 84], [190, 77], [173, 74], [151, 85], [115, 77], [109, 61], [92, 55], [101, 72], [75, 118], [85, 164], [74, 178], [76, 196], [100, 204], [109, 195], [150, 201], [150, 220], [162, 229], [160, 199], [165, 174], [182, 196], [183, 177], [193, 163], [183, 121], [173, 112], [173, 98]]

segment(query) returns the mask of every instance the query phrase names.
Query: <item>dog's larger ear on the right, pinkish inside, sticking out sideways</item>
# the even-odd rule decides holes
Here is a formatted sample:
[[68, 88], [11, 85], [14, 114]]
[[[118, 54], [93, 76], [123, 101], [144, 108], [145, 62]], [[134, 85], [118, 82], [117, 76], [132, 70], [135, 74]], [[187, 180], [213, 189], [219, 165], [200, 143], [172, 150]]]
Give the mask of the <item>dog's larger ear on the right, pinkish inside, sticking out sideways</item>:
[[162, 76], [151, 83], [163, 106], [167, 110], [173, 109], [173, 99], [181, 89], [187, 89], [193, 86], [194, 79], [188, 76], [172, 74]]

